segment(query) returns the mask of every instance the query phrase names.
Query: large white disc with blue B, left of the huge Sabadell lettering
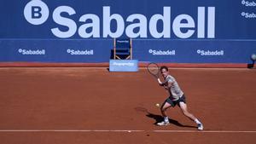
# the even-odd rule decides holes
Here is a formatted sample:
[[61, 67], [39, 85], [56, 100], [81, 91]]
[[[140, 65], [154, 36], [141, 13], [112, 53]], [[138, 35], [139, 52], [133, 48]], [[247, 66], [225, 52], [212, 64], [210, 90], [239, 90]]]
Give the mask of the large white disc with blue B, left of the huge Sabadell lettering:
[[43, 1], [32, 0], [26, 4], [24, 16], [32, 25], [41, 25], [48, 19], [49, 9]]

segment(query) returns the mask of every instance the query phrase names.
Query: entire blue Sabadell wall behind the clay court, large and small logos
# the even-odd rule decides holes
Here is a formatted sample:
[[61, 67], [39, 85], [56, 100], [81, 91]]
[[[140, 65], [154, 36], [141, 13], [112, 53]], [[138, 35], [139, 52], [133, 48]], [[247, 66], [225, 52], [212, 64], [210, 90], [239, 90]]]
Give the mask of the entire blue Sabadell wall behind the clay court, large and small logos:
[[0, 62], [108, 62], [113, 38], [133, 59], [248, 63], [256, 1], [23, 0], [0, 2]]

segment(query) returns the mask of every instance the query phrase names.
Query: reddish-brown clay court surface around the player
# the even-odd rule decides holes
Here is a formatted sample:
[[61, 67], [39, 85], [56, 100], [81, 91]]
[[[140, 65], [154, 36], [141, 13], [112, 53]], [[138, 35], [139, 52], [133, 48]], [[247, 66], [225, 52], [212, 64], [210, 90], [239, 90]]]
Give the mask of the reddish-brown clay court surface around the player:
[[170, 71], [205, 130], [198, 131], [178, 107], [168, 110], [171, 125], [155, 125], [161, 120], [155, 103], [167, 94], [144, 68], [2, 67], [1, 143], [253, 143], [255, 69]]

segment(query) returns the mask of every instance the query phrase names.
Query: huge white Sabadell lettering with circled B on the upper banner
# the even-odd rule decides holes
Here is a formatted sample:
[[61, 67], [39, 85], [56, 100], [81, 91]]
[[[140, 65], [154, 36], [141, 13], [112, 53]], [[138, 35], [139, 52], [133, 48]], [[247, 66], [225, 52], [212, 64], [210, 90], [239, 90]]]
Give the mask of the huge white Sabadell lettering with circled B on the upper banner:
[[[73, 14], [76, 14], [76, 11], [70, 6], [59, 6], [54, 9], [52, 17], [55, 24], [67, 27], [64, 30], [58, 26], [51, 28], [55, 37], [73, 37], [78, 32], [79, 36], [84, 38], [101, 37], [101, 33], [102, 37], [120, 37], [125, 33], [127, 37], [135, 38], [148, 37], [149, 32], [154, 38], [170, 38], [173, 31], [174, 35], [179, 38], [192, 37], [195, 32], [198, 38], [215, 38], [215, 7], [207, 7], [207, 11], [205, 7], [198, 7], [197, 26], [195, 26], [195, 18], [189, 14], [173, 16], [171, 7], [166, 6], [163, 7], [162, 14], [153, 14], [150, 18], [143, 14], [131, 14], [126, 19], [121, 14], [111, 14], [111, 7], [103, 6], [102, 18], [96, 14], [83, 14], [79, 18], [79, 22], [84, 23], [81, 26], [78, 26], [77, 22], [70, 17]], [[49, 9], [42, 1], [32, 0], [26, 4], [24, 15], [32, 25], [42, 25], [48, 18]], [[173, 17], [173, 22], [171, 17]], [[111, 25], [113, 22], [116, 23], [114, 30]], [[129, 25], [125, 25], [126, 22]], [[158, 27], [159, 23], [162, 23], [161, 29]]]

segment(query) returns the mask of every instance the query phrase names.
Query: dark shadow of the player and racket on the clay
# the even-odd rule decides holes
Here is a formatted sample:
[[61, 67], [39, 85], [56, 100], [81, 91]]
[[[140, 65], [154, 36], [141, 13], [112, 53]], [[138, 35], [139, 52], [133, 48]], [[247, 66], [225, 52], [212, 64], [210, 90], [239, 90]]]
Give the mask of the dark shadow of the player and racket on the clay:
[[[145, 112], [146, 116], [148, 118], [153, 118], [155, 120], [154, 125], [157, 125], [157, 123], [160, 123], [160, 122], [162, 122], [164, 120], [164, 118], [162, 116], [154, 114], [154, 113], [151, 113], [151, 112], [148, 112], [148, 110], [146, 108], [144, 108], [144, 107], [136, 107], [135, 109], [138, 112]], [[171, 118], [169, 118], [169, 122], [170, 122], [170, 124], [174, 124], [174, 125], [177, 125], [179, 127], [197, 128], [197, 127], [191, 126], [191, 125], [180, 124], [177, 120], [174, 120], [174, 119], [171, 119]]]

